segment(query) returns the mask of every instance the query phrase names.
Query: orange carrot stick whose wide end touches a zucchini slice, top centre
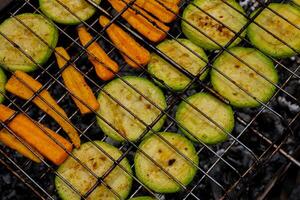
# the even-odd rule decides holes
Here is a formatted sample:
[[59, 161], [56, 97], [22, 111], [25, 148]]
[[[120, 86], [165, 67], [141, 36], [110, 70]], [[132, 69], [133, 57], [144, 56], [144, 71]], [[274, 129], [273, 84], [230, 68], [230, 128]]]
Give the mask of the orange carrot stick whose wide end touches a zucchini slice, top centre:
[[[101, 26], [109, 24], [109, 19], [100, 16], [99, 23]], [[150, 61], [150, 53], [139, 43], [137, 43], [128, 33], [123, 31], [119, 26], [111, 24], [106, 32], [112, 42], [116, 45], [122, 53], [121, 55], [125, 59], [128, 65], [137, 68], [148, 64]]]

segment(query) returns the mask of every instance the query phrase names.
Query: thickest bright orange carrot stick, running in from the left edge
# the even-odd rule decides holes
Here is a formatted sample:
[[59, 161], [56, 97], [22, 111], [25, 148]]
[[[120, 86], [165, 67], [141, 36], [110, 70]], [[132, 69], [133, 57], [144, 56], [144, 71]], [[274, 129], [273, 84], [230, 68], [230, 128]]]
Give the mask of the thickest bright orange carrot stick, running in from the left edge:
[[[0, 104], [0, 120], [3, 123], [10, 119], [14, 113], [14, 110], [4, 106], [3, 104]], [[26, 115], [17, 114], [7, 124], [7, 126], [45, 158], [49, 159], [56, 165], [60, 165], [68, 157], [67, 152], [72, 151], [72, 144], [52, 130], [48, 128], [43, 130], [35, 123], [37, 122], [34, 122]], [[43, 127], [41, 124], [39, 125]], [[48, 136], [44, 131], [46, 131], [51, 137]], [[56, 144], [55, 141], [62, 146]]]

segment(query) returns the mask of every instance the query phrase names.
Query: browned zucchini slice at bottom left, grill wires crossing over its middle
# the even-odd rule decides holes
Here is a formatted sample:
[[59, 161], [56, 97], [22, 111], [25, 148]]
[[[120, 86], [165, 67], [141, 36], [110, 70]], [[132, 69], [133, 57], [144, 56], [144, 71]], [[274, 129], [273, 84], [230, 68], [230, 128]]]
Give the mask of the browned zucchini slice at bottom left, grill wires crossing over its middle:
[[[114, 146], [105, 142], [95, 141], [99, 149], [91, 142], [82, 144], [80, 149], [73, 150], [73, 155], [84, 163], [94, 174], [101, 177], [113, 165], [113, 161], [107, 157], [100, 149], [103, 149], [115, 160], [121, 157], [122, 153]], [[132, 174], [129, 162], [124, 158], [120, 165], [127, 172]], [[97, 179], [78, 161], [69, 157], [57, 170], [65, 181], [68, 181], [81, 195], [85, 195]], [[60, 177], [55, 177], [55, 187], [61, 199], [80, 200], [80, 195], [69, 187]], [[122, 168], [116, 166], [110, 174], [104, 179], [104, 182], [113, 189], [122, 199], [125, 199], [131, 189], [132, 177]], [[104, 185], [99, 185], [87, 199], [118, 199], [118, 197]]]

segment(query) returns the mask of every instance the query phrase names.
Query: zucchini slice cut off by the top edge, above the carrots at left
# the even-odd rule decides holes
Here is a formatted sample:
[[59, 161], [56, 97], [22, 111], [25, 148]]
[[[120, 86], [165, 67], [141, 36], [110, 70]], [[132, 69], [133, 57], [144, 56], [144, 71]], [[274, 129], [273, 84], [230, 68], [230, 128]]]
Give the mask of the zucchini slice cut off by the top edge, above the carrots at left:
[[[101, 0], [93, 2], [100, 4]], [[96, 8], [85, 0], [39, 0], [39, 3], [42, 12], [60, 24], [80, 24], [96, 12]]]

